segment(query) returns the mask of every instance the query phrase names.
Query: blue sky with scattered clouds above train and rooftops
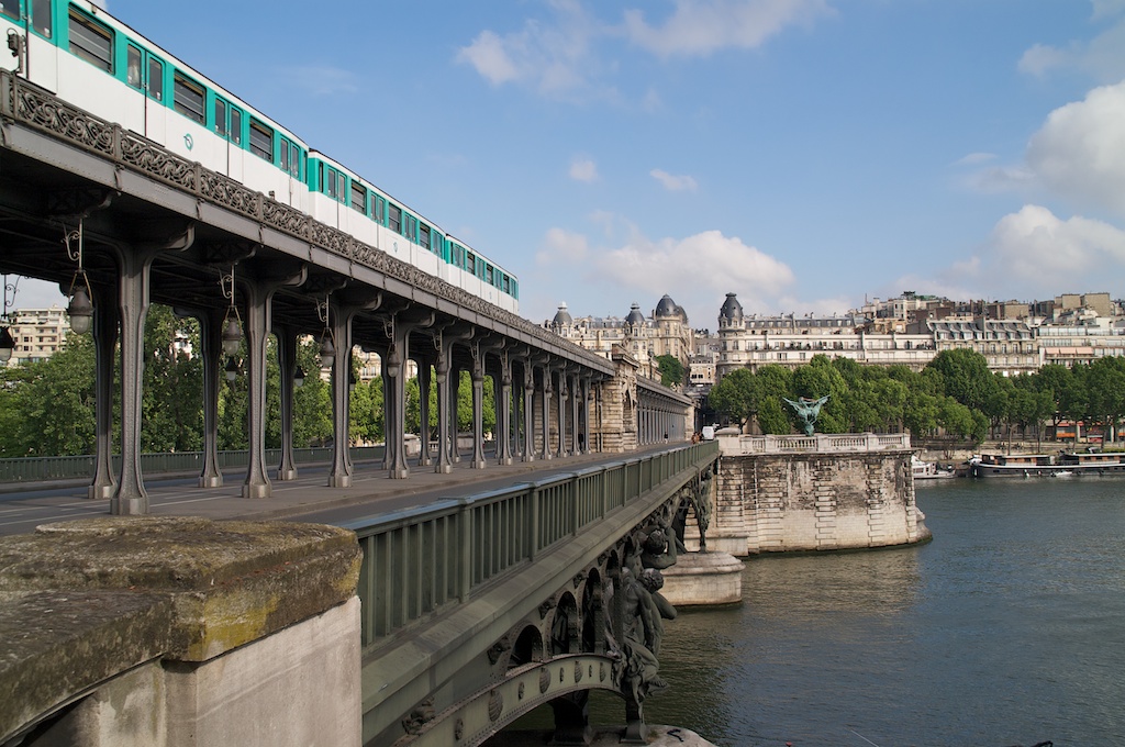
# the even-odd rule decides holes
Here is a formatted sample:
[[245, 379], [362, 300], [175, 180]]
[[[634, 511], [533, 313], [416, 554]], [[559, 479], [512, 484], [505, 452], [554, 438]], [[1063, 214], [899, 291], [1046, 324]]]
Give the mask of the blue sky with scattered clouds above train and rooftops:
[[1125, 296], [1125, 0], [106, 6], [518, 276], [536, 323]]

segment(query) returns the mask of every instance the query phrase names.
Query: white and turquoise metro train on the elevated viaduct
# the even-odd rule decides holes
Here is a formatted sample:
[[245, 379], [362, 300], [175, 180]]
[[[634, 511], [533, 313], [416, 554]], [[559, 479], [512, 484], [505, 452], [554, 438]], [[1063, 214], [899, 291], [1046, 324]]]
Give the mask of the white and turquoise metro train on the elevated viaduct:
[[519, 313], [512, 273], [88, 0], [0, 0], [0, 68]]

